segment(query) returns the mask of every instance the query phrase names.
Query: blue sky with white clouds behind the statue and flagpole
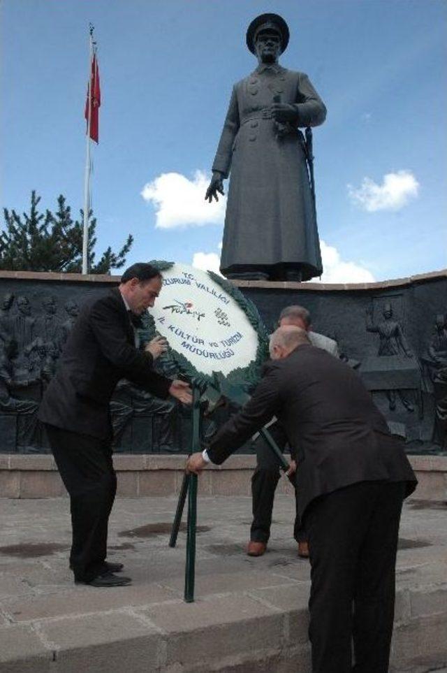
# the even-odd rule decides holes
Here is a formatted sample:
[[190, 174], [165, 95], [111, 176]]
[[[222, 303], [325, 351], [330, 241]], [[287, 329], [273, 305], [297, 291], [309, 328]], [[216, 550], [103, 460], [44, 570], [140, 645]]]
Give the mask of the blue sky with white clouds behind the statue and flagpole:
[[444, 0], [3, 0], [0, 7], [2, 206], [27, 210], [36, 189], [43, 208], [55, 210], [59, 194], [75, 212], [82, 207], [91, 21], [102, 96], [92, 176], [98, 249], [118, 247], [130, 232], [129, 263], [192, 263], [196, 254], [211, 267], [224, 203], [211, 208], [198, 195], [231, 87], [256, 66], [247, 25], [274, 11], [291, 31], [281, 64], [306, 72], [328, 107], [314, 130], [326, 280], [447, 266]]

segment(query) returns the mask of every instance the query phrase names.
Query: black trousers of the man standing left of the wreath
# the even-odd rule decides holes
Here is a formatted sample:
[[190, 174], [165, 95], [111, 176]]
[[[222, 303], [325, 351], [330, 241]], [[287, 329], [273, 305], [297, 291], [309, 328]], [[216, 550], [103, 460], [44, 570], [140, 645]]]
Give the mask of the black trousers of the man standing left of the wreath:
[[104, 570], [108, 519], [117, 490], [110, 443], [46, 425], [54, 460], [70, 495], [75, 579], [90, 581]]

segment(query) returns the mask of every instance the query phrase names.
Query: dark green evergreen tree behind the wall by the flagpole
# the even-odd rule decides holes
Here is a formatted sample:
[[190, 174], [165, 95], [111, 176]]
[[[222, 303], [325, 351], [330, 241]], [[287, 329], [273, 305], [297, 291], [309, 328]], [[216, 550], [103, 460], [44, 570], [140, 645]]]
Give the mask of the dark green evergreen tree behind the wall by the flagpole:
[[[23, 216], [15, 210], [3, 209], [5, 224], [0, 231], [0, 268], [12, 271], [58, 271], [59, 273], [81, 273], [83, 212], [80, 220], [73, 221], [71, 208], [66, 205], [62, 194], [57, 199], [57, 211], [38, 212], [41, 197], [31, 192], [29, 214]], [[133, 243], [129, 237], [119, 252], [112, 252], [109, 246], [95, 263], [96, 217], [89, 212], [89, 235], [87, 259], [89, 273], [110, 273], [113, 268], [121, 268], [126, 263]]]

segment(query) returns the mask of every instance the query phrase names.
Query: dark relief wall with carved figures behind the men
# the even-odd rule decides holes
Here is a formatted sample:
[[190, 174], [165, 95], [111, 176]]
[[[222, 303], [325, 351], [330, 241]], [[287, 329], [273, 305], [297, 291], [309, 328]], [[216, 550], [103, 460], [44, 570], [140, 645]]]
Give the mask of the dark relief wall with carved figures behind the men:
[[[0, 274], [3, 453], [49, 451], [36, 417], [41, 396], [54, 375], [80, 305], [92, 294], [108, 291], [113, 282], [104, 277], [93, 281], [75, 280], [70, 275], [63, 280], [48, 280], [47, 274], [24, 276]], [[409, 451], [446, 450], [447, 275], [362, 289], [328, 289], [315, 284], [301, 286], [305, 289], [262, 283], [240, 286], [270, 330], [286, 305], [307, 307], [314, 331], [337, 340], [342, 359], [356, 368], [391, 430], [405, 438]], [[151, 337], [143, 328], [140, 346]], [[161, 358], [157, 367], [168, 376], [176, 374], [168, 356]], [[122, 381], [110, 411], [115, 451], [189, 451], [189, 410], [175, 401], [159, 400]], [[221, 418], [213, 420], [219, 423], [224, 418], [222, 410]]]

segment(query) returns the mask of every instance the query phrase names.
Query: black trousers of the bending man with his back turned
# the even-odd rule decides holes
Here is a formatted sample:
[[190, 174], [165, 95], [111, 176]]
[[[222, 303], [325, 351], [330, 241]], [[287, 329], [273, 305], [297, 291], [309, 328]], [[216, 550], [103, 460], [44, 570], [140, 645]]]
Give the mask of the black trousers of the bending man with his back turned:
[[403, 482], [360, 482], [305, 513], [313, 673], [388, 672], [403, 498]]

